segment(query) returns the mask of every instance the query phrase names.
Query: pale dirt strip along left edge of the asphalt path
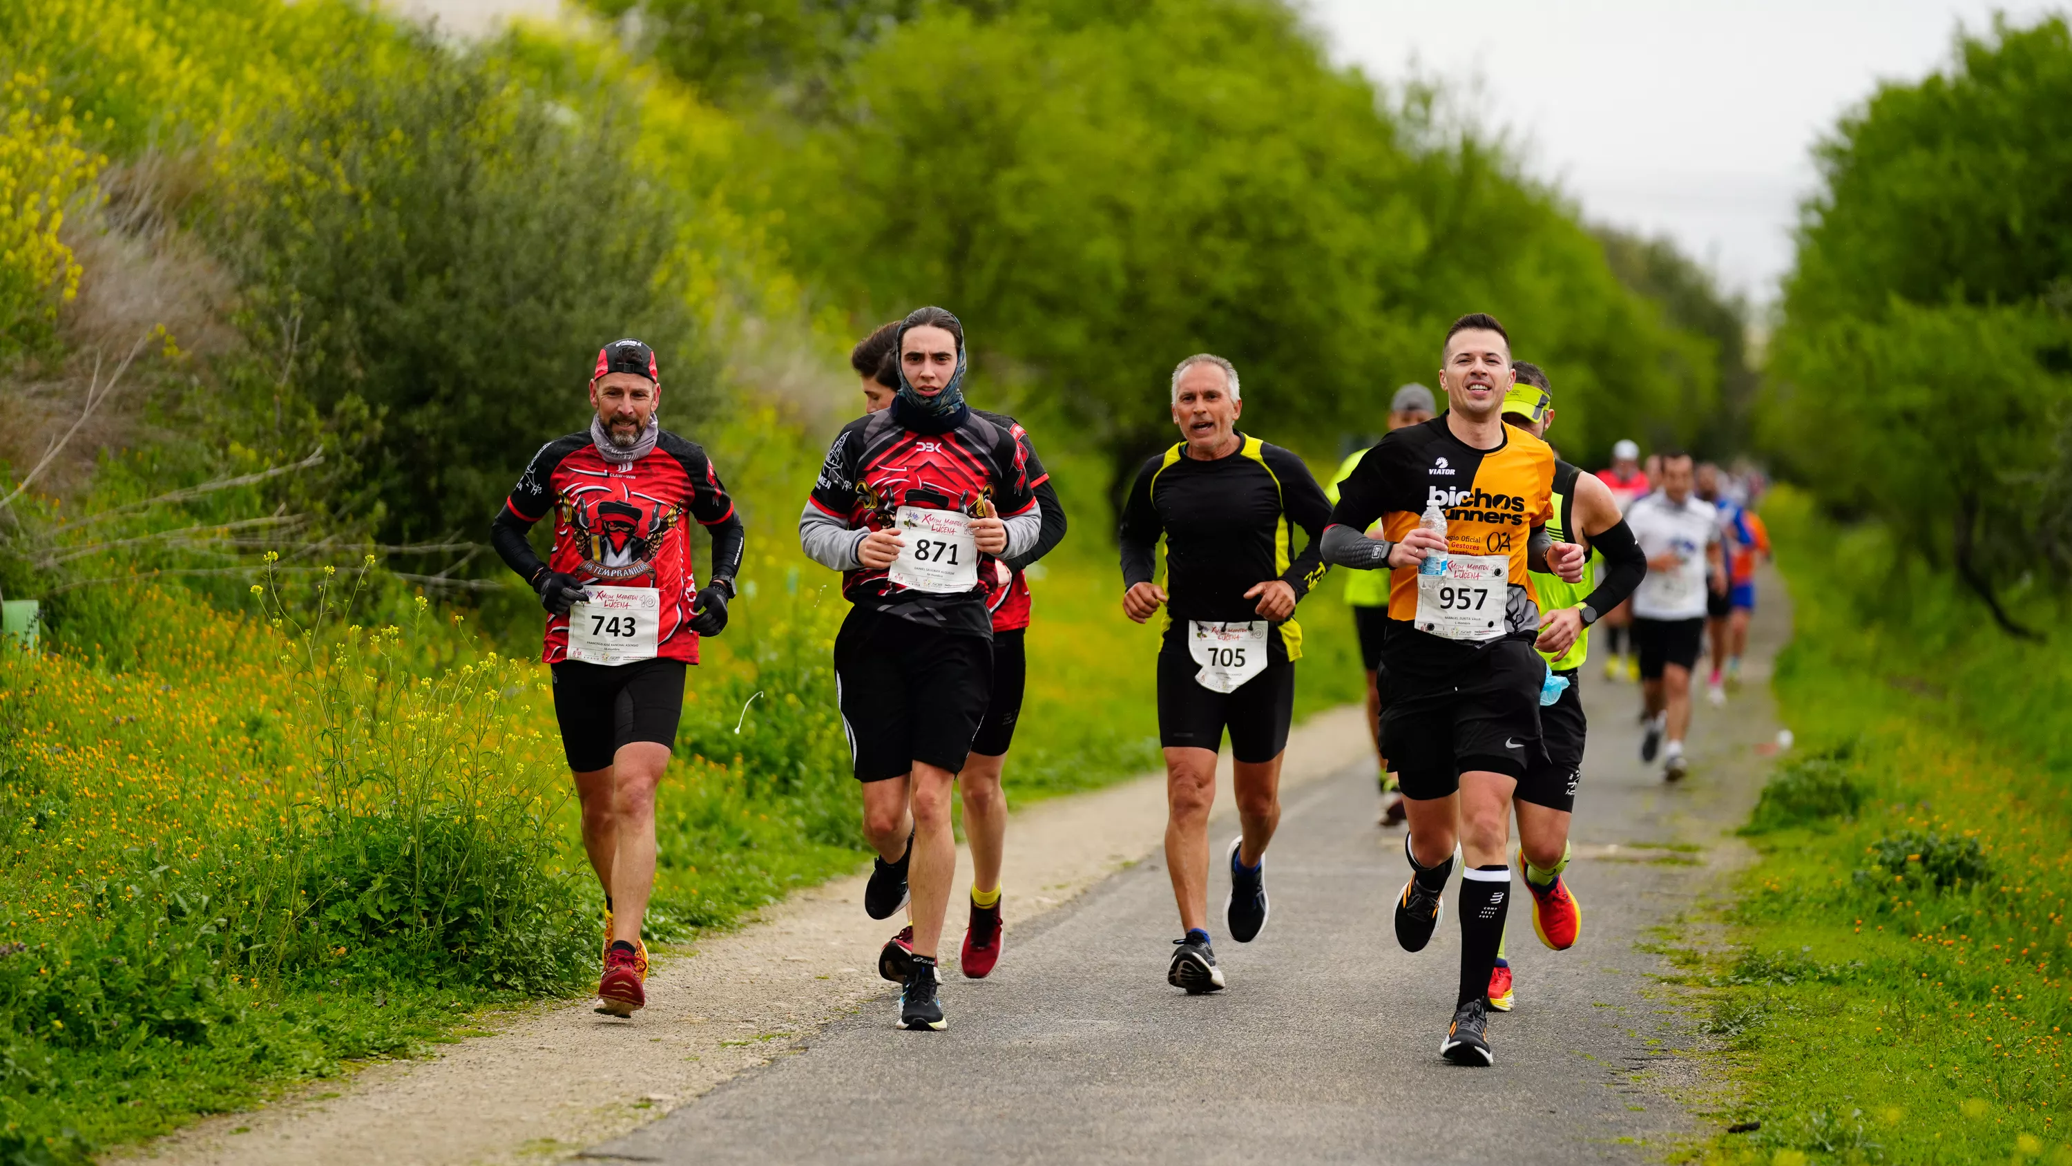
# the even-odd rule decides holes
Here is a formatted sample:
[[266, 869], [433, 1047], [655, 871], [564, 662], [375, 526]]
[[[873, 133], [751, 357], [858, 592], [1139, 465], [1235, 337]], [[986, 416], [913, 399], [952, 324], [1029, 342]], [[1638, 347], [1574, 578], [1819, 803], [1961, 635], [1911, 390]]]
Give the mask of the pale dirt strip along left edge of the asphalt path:
[[[1368, 754], [1353, 706], [1312, 717], [1289, 739], [1283, 789]], [[1013, 762], [1009, 762], [1013, 764]], [[1229, 756], [1216, 789], [1229, 808]], [[1036, 804], [1007, 835], [1007, 959], [1015, 924], [1067, 903], [1152, 853], [1164, 835], [1164, 777]], [[959, 851], [957, 886], [970, 878]], [[591, 1002], [497, 1021], [493, 1036], [427, 1060], [373, 1065], [263, 1110], [207, 1118], [120, 1160], [209, 1166], [373, 1166], [551, 1162], [659, 1118], [729, 1077], [781, 1056], [889, 986], [876, 951], [891, 934], [862, 911], [864, 878], [802, 891], [740, 932], [659, 961], [632, 1023]], [[961, 938], [961, 922], [949, 934]]]

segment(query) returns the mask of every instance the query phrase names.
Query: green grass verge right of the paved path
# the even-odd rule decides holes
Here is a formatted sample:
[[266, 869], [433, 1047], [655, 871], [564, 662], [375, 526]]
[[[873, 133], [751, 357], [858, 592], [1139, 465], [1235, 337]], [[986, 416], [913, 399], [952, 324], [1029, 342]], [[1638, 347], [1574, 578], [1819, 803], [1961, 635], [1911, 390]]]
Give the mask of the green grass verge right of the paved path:
[[[1765, 509], [1798, 748], [1745, 830], [1709, 1162], [2072, 1162], [2068, 644], [2020, 644], [1879, 530]], [[2024, 599], [2024, 596], [2016, 596]], [[2026, 596], [2035, 613], [2053, 601]]]

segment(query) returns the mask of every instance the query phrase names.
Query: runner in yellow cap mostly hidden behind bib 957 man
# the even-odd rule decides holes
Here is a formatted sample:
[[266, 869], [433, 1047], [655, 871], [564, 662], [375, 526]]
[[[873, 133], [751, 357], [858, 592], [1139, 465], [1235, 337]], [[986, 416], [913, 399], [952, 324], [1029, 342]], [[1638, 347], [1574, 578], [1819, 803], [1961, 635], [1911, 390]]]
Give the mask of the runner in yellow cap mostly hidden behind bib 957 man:
[[[1504, 396], [1504, 422], [1546, 439], [1554, 425], [1554, 393], [1539, 365], [1517, 360], [1510, 367], [1519, 383]], [[1575, 532], [1575, 534], [1571, 534]], [[1577, 536], [1579, 534], [1579, 536]], [[1539, 706], [1539, 731], [1546, 756], [1525, 762], [1525, 781], [1513, 799], [1519, 814], [1519, 872], [1533, 895], [1533, 930], [1539, 942], [1566, 951], [1583, 930], [1583, 909], [1569, 891], [1562, 872], [1569, 868], [1569, 820], [1575, 814], [1575, 791], [1583, 781], [1583, 737], [1589, 723], [1583, 717], [1583, 659], [1589, 654], [1589, 628], [1598, 611], [1627, 601], [1633, 586], [1647, 574], [1647, 559], [1633, 541], [1633, 530], [1618, 514], [1612, 491], [1593, 474], [1556, 458], [1554, 518], [1548, 536], [1556, 543], [1575, 541], [1589, 547], [1579, 582], [1531, 572], [1539, 594], [1539, 654], [1548, 669], [1569, 681], [1560, 700]], [[1606, 570], [1598, 570], [1604, 563]], [[1510, 961], [1496, 949], [1496, 971], [1490, 973], [1490, 1007], [1508, 1013], [1515, 1004]]]

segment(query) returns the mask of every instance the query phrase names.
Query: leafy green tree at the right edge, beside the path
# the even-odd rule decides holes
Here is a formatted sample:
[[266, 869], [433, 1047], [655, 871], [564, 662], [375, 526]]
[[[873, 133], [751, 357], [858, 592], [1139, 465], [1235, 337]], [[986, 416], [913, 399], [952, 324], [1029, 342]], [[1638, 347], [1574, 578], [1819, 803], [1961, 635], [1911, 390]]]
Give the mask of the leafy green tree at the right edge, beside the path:
[[1761, 433], [1840, 509], [2002, 594], [2072, 567], [2072, 31], [1960, 37], [1819, 149]]

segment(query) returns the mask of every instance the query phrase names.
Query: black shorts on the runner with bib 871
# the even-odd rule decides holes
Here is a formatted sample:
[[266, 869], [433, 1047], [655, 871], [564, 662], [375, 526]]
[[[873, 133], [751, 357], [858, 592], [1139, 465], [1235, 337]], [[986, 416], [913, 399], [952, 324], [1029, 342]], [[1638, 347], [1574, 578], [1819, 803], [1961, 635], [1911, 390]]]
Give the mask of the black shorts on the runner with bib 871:
[[992, 640], [957, 636], [868, 607], [835, 634], [835, 698], [856, 781], [963, 770], [992, 692]]

